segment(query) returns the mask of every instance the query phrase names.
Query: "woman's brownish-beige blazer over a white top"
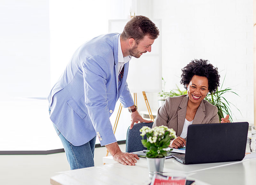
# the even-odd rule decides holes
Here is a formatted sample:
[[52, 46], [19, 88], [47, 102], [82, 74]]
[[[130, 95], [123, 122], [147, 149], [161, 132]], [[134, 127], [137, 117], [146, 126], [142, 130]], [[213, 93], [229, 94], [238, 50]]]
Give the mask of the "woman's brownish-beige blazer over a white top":
[[[172, 128], [177, 137], [180, 136], [187, 113], [188, 95], [169, 97], [157, 111], [152, 127], [167, 126]], [[196, 111], [192, 124], [219, 123], [218, 108], [203, 100]]]

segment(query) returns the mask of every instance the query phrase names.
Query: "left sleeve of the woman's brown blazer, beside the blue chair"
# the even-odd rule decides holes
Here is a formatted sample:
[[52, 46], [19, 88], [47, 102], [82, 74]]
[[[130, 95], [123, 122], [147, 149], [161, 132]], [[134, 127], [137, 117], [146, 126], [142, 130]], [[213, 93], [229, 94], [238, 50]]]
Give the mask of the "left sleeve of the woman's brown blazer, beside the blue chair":
[[167, 98], [164, 101], [164, 104], [158, 109], [156, 114], [156, 119], [155, 119], [155, 122], [153, 123], [152, 128], [156, 126], [161, 126], [161, 125], [167, 126], [171, 108], [172, 108], [172, 100], [171, 98]]

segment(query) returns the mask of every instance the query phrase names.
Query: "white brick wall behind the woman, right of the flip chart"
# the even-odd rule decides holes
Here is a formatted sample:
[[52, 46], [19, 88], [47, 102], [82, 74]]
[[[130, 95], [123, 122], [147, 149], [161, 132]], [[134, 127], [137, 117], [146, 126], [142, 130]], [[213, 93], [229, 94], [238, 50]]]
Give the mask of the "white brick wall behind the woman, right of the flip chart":
[[[240, 95], [227, 94], [235, 120], [253, 124], [252, 0], [151, 1], [152, 18], [162, 19], [162, 75], [165, 89], [180, 84], [181, 68], [194, 58], [208, 59]], [[180, 85], [182, 88], [182, 86]], [[156, 100], [154, 100], [156, 101]]]

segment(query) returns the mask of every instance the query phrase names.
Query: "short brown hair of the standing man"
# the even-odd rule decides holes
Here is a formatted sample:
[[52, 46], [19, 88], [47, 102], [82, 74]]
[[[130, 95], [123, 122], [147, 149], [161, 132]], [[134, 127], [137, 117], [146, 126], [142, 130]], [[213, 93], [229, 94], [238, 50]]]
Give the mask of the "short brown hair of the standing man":
[[121, 39], [133, 38], [135, 41], [140, 41], [146, 35], [149, 35], [150, 39], [156, 39], [159, 36], [159, 30], [149, 18], [139, 15], [126, 23]]

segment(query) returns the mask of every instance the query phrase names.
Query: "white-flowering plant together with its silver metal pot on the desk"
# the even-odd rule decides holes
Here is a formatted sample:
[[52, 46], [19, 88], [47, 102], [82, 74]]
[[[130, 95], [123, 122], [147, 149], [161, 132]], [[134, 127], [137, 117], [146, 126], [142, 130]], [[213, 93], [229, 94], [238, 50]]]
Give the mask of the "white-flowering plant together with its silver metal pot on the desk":
[[[152, 178], [156, 172], [163, 172], [164, 160], [167, 155], [166, 149], [170, 144], [170, 140], [176, 138], [176, 133], [173, 129], [166, 126], [159, 126], [150, 129], [144, 126], [140, 129], [142, 136], [141, 143], [148, 149], [146, 158], [148, 160], [149, 177]], [[144, 136], [146, 135], [146, 139]]]

